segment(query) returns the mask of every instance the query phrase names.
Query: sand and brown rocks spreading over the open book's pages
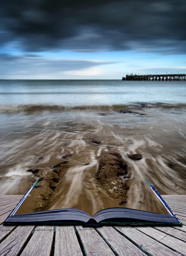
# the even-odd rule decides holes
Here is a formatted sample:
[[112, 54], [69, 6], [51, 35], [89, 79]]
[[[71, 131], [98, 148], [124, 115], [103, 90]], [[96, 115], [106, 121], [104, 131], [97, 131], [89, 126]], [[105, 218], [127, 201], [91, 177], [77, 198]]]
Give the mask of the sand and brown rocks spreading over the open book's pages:
[[[85, 176], [82, 181], [81, 175], [88, 177]], [[145, 180], [140, 184], [130, 183], [129, 171], [119, 154], [103, 155], [97, 166], [90, 163], [72, 168], [61, 163], [37, 172], [35, 177], [39, 178], [37, 184], [15, 215], [75, 208], [93, 216], [99, 210], [110, 207], [169, 214]]]

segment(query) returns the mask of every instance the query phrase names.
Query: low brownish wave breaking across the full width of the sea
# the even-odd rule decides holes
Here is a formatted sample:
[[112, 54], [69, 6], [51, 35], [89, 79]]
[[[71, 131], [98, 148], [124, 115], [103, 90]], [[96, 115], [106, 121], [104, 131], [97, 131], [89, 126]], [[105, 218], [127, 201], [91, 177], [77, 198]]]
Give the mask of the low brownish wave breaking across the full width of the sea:
[[2, 105], [0, 106], [0, 113], [32, 113], [32, 112], [56, 112], [56, 111], [70, 111], [70, 110], [128, 110], [146, 108], [186, 108], [186, 103], [168, 104], [168, 103], [147, 103], [136, 102], [129, 105], [89, 105], [89, 106], [63, 106], [63, 105]]

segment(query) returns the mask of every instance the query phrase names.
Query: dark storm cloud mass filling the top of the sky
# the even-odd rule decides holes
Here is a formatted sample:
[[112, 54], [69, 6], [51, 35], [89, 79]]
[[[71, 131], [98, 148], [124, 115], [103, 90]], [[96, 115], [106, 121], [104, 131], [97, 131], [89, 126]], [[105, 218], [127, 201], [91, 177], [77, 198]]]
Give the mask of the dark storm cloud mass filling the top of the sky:
[[185, 0], [0, 1], [0, 44], [28, 51], [186, 53]]

